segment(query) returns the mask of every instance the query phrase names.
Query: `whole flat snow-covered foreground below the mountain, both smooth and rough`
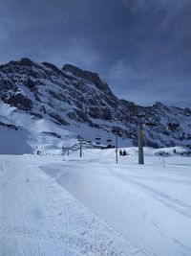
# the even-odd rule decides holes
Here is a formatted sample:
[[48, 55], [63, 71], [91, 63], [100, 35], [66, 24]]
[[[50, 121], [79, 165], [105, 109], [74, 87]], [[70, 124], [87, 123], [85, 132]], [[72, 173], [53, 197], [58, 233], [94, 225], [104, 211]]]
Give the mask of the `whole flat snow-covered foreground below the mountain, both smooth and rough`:
[[0, 255], [191, 255], [191, 158], [0, 156]]

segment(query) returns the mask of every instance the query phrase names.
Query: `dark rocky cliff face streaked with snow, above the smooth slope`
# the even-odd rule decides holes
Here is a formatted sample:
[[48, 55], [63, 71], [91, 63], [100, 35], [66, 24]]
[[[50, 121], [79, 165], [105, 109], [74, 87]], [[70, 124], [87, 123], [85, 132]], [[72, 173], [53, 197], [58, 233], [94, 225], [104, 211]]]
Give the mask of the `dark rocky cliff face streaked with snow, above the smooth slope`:
[[[160, 103], [142, 107], [119, 100], [96, 73], [70, 64], [62, 69], [49, 62], [29, 58], [0, 66], [0, 98], [35, 119], [76, 131], [83, 137], [111, 134], [119, 128], [124, 145], [137, 145], [138, 120], [135, 112], [144, 111], [145, 145], [152, 147], [191, 147], [191, 110], [167, 107]], [[134, 115], [131, 113], [134, 112]], [[1, 125], [1, 124], [0, 124]], [[91, 132], [92, 130], [92, 132]], [[94, 135], [95, 134], [95, 135]]]

